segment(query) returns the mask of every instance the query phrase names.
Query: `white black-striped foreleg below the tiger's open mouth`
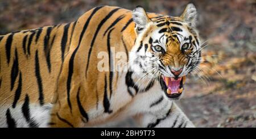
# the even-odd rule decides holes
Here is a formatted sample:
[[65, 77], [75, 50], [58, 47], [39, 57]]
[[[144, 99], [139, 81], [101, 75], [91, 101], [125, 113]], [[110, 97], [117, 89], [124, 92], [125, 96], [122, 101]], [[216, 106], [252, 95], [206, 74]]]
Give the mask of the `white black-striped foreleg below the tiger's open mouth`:
[[134, 117], [141, 127], [147, 128], [194, 128], [195, 125], [174, 102], [155, 112]]

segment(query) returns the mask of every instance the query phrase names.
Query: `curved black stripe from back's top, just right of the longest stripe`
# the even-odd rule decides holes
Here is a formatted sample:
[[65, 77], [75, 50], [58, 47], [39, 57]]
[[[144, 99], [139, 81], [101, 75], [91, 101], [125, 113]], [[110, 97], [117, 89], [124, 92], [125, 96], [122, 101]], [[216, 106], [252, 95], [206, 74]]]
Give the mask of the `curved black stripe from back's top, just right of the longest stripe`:
[[93, 44], [94, 44], [94, 41], [95, 41], [95, 39], [96, 39], [96, 37], [98, 35], [98, 32], [100, 31], [101, 26], [106, 22], [106, 20], [108, 20], [119, 9], [120, 8], [117, 8], [117, 9], [114, 9], [114, 10], [110, 11], [109, 14], [106, 15], [105, 18], [101, 20], [100, 24], [98, 24], [98, 27], [97, 27], [96, 32], [94, 33], [92, 42], [90, 43], [90, 49], [89, 49], [89, 52], [88, 52], [88, 58], [87, 58], [87, 64], [86, 64], [86, 70], [85, 70], [85, 72], [86, 72], [85, 73], [85, 77], [87, 77], [87, 71], [88, 71], [89, 62], [90, 62], [90, 54], [92, 53]]

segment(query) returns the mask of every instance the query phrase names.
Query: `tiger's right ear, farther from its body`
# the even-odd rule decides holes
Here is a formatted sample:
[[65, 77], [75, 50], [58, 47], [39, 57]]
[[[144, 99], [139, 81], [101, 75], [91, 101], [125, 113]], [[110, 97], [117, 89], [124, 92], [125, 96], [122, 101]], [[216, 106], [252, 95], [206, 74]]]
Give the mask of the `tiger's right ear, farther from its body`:
[[188, 23], [189, 26], [195, 28], [197, 22], [197, 11], [195, 5], [189, 3], [180, 18], [183, 20], [183, 22]]

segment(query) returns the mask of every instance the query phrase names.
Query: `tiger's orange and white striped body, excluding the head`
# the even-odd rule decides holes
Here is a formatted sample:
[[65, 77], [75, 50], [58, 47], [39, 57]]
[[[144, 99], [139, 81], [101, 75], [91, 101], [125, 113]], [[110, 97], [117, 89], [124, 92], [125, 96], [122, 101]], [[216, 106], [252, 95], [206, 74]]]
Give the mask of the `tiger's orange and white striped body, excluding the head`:
[[[136, 69], [135, 54], [150, 49], [138, 41], [150, 29], [136, 32], [133, 16], [99, 6], [76, 22], [0, 36], [0, 127], [92, 127], [130, 116], [142, 127], [194, 127], [158, 80], [110, 66], [113, 53], [122, 52], [129, 61], [122, 68]], [[109, 71], [98, 70], [101, 52]]]

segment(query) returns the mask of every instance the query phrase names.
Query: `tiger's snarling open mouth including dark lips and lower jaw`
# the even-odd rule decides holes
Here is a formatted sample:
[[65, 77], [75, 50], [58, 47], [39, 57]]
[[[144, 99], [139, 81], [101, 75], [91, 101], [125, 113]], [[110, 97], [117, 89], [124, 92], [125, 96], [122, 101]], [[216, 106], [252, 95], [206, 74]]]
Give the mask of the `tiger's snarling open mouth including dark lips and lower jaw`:
[[177, 79], [172, 77], [164, 77], [160, 79], [160, 85], [168, 98], [179, 98], [183, 91], [183, 84], [186, 77], [179, 77]]

